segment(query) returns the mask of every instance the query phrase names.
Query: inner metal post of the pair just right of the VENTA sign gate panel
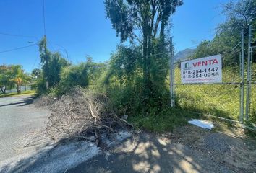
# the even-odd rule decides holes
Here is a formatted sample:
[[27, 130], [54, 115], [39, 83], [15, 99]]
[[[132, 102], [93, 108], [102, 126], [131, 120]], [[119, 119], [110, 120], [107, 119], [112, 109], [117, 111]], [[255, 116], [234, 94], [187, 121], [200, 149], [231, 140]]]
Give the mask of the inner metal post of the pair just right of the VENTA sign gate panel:
[[244, 123], [244, 29], [241, 30], [241, 56], [240, 56], [240, 123]]

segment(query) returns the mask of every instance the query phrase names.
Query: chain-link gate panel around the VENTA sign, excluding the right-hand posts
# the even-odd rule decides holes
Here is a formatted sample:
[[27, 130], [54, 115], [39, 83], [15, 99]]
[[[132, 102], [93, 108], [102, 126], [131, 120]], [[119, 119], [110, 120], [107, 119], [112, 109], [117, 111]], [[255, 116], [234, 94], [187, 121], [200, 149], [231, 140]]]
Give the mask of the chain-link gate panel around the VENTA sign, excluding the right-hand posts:
[[[222, 59], [226, 56], [223, 54]], [[222, 83], [217, 84], [182, 84], [180, 63], [175, 63], [174, 74], [176, 106], [204, 115], [239, 120], [241, 86], [239, 64], [223, 66]]]

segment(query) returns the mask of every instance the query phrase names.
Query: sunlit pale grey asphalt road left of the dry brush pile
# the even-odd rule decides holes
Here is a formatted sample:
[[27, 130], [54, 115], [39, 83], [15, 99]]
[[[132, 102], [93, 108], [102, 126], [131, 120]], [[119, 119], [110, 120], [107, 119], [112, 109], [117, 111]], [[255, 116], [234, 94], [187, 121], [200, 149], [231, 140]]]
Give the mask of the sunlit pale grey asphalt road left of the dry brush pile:
[[0, 98], [0, 161], [22, 153], [24, 136], [44, 127], [48, 115], [30, 95]]

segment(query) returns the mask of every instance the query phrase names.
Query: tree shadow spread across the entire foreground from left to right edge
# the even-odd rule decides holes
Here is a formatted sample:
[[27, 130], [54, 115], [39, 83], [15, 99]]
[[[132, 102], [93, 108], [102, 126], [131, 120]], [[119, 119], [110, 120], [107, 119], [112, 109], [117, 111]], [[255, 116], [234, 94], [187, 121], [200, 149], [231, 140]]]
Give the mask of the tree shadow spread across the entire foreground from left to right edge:
[[[115, 146], [102, 147], [101, 151], [95, 144], [87, 142], [74, 142], [69, 145], [59, 142], [54, 148], [47, 148], [46, 145], [46, 149], [24, 157], [15, 164], [1, 166], [0, 163], [0, 172], [190, 173], [252, 172], [255, 169], [255, 166], [250, 164], [255, 156], [241, 154], [245, 150], [242, 140], [213, 132], [205, 133], [203, 138], [211, 134], [215, 134], [220, 141], [226, 141], [230, 147], [229, 151], [215, 151], [214, 154], [213, 146], [199, 149], [196, 148], [195, 141], [182, 144], [173, 142], [171, 138], [139, 133], [127, 138], [126, 141], [116, 143]], [[190, 131], [187, 131], [187, 136], [190, 136]], [[213, 159], [213, 156], [215, 158], [218, 156], [218, 159]], [[249, 160], [244, 160], [245, 156]], [[231, 162], [227, 163], [233, 159], [244, 161], [244, 163], [238, 165], [235, 163], [238, 160], [234, 165]]]

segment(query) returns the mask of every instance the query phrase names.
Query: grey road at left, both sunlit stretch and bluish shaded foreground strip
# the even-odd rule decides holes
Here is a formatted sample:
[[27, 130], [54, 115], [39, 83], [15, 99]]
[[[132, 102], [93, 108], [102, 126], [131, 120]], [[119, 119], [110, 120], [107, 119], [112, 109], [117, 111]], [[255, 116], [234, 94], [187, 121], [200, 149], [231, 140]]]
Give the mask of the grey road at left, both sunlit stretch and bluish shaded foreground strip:
[[95, 143], [52, 141], [48, 113], [31, 96], [0, 98], [0, 173], [65, 172], [100, 152]]

